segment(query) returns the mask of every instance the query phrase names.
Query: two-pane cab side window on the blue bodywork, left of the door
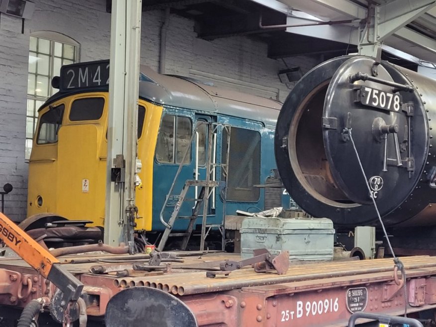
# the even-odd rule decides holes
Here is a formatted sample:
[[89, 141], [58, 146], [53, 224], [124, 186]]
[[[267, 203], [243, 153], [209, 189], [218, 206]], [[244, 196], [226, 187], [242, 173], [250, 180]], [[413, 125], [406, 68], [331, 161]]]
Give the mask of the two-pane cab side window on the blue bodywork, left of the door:
[[[174, 135], [176, 137], [174, 137]], [[156, 160], [161, 163], [184, 163], [191, 161], [192, 121], [188, 117], [164, 115], [157, 137]]]

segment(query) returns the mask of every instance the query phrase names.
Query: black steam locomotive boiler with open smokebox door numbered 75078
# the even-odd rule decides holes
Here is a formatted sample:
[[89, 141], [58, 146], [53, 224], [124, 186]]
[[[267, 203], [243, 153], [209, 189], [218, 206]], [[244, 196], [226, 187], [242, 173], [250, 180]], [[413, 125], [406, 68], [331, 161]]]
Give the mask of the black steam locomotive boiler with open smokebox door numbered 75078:
[[[436, 224], [436, 81], [364, 56], [331, 59], [286, 99], [275, 131], [291, 197], [336, 226]], [[355, 145], [355, 148], [353, 146]]]

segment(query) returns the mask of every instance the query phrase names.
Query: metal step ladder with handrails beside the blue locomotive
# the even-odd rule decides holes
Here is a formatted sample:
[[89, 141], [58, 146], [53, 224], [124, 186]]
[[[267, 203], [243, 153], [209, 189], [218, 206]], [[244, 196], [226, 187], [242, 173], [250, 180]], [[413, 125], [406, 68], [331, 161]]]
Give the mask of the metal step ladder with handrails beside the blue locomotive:
[[[203, 123], [203, 122], [202, 122]], [[224, 231], [224, 218], [225, 218], [225, 198], [226, 198], [226, 185], [227, 185], [227, 167], [228, 167], [228, 152], [229, 152], [229, 144], [230, 144], [230, 126], [213, 123], [213, 122], [204, 122], [209, 126], [209, 142], [208, 142], [208, 158], [206, 163], [206, 179], [205, 180], [186, 180], [185, 184], [183, 186], [182, 191], [180, 192], [180, 195], [178, 196], [177, 203], [174, 206], [174, 210], [171, 214], [171, 217], [169, 218], [168, 222], [165, 221], [163, 218], [163, 213], [165, 208], [168, 205], [168, 200], [171, 197], [171, 194], [174, 190], [174, 186], [176, 184], [176, 181], [179, 177], [180, 171], [182, 170], [183, 163], [185, 162], [186, 156], [189, 152], [189, 148], [185, 152], [183, 156], [183, 160], [181, 161], [179, 165], [179, 169], [177, 170], [176, 176], [174, 177], [173, 184], [171, 185], [170, 191], [165, 199], [165, 203], [162, 207], [162, 210], [160, 212], [160, 220], [165, 225], [165, 231], [162, 234], [162, 238], [160, 239], [158, 250], [162, 251], [168, 241], [169, 237], [175, 237], [175, 236], [183, 236], [182, 239], [182, 245], [181, 250], [186, 250], [186, 247], [188, 246], [188, 242], [192, 236], [195, 222], [197, 218], [200, 216], [200, 210], [201, 206], [203, 204], [203, 214], [202, 216], [202, 230], [201, 230], [201, 239], [200, 239], [200, 250], [203, 251], [205, 247], [205, 240], [208, 236], [209, 232], [212, 228], [218, 228], [220, 234], [221, 234], [221, 249], [224, 249], [225, 245], [225, 231]], [[213, 162], [212, 160], [212, 152], [213, 149], [213, 135], [218, 130], [218, 126], [222, 126], [223, 130], [227, 132], [227, 142], [226, 142], [226, 163], [225, 164], [217, 164]], [[199, 127], [199, 124], [197, 124], [196, 131]], [[191, 144], [194, 141], [194, 136], [196, 133], [194, 133], [191, 137]], [[215, 161], [215, 160], [214, 160]], [[220, 166], [223, 172], [223, 176], [225, 177], [224, 181], [216, 181], [215, 180], [215, 173], [216, 173], [216, 167]], [[188, 191], [190, 187], [200, 187], [201, 191], [198, 195], [196, 195], [195, 199], [188, 199], [186, 196], [188, 194]], [[214, 191], [218, 189], [224, 190], [224, 196], [223, 196], [223, 217], [221, 219], [221, 222], [219, 224], [208, 224], [207, 223], [207, 214], [208, 214], [208, 206], [209, 206], [209, 199], [211, 195], [214, 193]], [[197, 193], [197, 192], [196, 192]], [[182, 208], [182, 205], [185, 202], [195, 202], [195, 205], [192, 209], [192, 215], [191, 216], [179, 216], [180, 209]], [[189, 219], [188, 227], [183, 232], [172, 232], [172, 228], [174, 226], [174, 223], [177, 219]]]

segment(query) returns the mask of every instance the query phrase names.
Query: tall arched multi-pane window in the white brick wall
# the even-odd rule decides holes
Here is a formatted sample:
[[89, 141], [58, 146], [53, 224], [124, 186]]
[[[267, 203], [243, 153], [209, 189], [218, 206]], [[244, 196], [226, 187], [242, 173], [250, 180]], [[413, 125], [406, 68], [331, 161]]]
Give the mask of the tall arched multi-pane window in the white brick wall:
[[72, 38], [49, 31], [30, 35], [29, 70], [27, 78], [26, 153], [30, 158], [32, 138], [36, 128], [39, 107], [57, 92], [51, 79], [59, 76], [62, 65], [78, 62], [79, 43]]

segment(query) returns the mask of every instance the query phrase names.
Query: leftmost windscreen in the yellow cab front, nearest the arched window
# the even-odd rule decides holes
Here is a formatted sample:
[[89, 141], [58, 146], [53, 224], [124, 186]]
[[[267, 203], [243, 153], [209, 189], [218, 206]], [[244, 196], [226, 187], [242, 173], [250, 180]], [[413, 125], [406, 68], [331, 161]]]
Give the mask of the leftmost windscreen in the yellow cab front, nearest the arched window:
[[39, 118], [38, 137], [36, 144], [49, 144], [58, 141], [58, 131], [62, 125], [65, 106], [53, 107]]

